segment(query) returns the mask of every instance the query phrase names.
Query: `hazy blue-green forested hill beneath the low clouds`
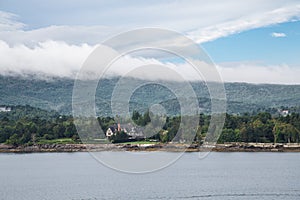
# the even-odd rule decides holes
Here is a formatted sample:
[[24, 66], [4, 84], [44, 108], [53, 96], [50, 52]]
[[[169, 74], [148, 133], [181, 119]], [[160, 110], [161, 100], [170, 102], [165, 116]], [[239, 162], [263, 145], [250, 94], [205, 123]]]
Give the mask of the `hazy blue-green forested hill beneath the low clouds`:
[[[102, 80], [96, 92], [98, 115], [111, 115], [110, 99], [118, 78]], [[131, 81], [140, 81], [128, 78]], [[182, 88], [182, 83], [176, 84]], [[0, 105], [30, 105], [61, 114], [71, 114], [74, 80], [33, 77], [0, 76]], [[203, 83], [192, 83], [203, 112], [210, 109], [208, 90]], [[300, 85], [225, 83], [228, 113], [253, 113], [270, 108], [300, 107]], [[189, 95], [187, 94], [187, 98]], [[120, 96], [119, 99], [122, 99]], [[179, 102], [165, 87], [150, 84], [138, 88], [130, 99], [130, 108], [145, 111], [152, 103], [165, 107], [168, 114], [178, 114]]]

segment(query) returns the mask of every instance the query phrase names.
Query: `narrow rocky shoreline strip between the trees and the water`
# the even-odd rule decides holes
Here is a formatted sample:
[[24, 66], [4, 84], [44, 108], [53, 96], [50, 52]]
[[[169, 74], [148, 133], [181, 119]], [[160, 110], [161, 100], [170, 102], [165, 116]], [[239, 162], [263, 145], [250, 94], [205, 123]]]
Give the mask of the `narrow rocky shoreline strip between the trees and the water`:
[[42, 144], [12, 146], [0, 144], [0, 153], [43, 152], [97, 152], [97, 151], [162, 151], [162, 152], [300, 152], [300, 144], [229, 143], [197, 144]]

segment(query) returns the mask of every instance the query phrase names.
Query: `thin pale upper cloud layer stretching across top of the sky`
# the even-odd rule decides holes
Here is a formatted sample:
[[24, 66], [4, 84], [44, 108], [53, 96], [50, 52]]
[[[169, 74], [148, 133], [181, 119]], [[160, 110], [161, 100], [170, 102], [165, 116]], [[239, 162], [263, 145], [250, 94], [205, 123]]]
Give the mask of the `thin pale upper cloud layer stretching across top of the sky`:
[[[300, 18], [300, 2], [297, 0], [159, 1], [146, 5], [137, 1], [100, 9], [103, 9], [103, 12], [92, 12], [92, 16], [89, 15], [89, 19], [99, 21], [95, 26], [54, 24], [26, 31], [22, 29], [24, 24], [16, 21], [12, 14], [1, 12], [0, 39], [10, 45], [17, 43], [31, 45], [45, 40], [60, 40], [69, 44], [97, 44], [121, 31], [158, 27], [180, 31], [202, 43]], [[46, 15], [43, 17], [47, 19]], [[110, 23], [107, 23], [107, 20]]]

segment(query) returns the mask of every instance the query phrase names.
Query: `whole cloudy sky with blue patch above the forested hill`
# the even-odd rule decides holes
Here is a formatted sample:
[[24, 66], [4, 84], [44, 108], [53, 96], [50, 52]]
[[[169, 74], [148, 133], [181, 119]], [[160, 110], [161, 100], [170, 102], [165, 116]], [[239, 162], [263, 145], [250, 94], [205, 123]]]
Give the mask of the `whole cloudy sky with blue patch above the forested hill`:
[[74, 77], [99, 43], [144, 27], [195, 41], [224, 81], [300, 84], [297, 0], [0, 0], [0, 74]]

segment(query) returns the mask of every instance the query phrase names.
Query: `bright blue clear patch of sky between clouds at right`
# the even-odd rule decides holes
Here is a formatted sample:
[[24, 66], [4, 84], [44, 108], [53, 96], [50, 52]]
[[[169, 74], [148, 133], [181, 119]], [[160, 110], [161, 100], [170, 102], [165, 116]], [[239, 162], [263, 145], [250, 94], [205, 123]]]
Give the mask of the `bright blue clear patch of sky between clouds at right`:
[[[284, 37], [272, 37], [284, 33]], [[202, 44], [219, 62], [261, 62], [300, 66], [300, 22], [256, 28]]]

